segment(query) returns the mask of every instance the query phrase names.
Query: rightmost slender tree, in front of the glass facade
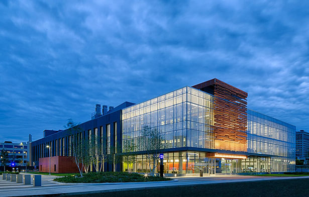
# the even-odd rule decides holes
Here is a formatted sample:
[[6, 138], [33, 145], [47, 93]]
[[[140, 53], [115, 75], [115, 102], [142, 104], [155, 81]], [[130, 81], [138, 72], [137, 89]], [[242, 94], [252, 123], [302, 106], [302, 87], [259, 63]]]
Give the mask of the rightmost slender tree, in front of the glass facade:
[[141, 149], [146, 152], [151, 175], [154, 175], [155, 169], [158, 165], [161, 153], [160, 149], [162, 148], [161, 141], [161, 134], [156, 128], [150, 129], [148, 126], [144, 127], [141, 133]]

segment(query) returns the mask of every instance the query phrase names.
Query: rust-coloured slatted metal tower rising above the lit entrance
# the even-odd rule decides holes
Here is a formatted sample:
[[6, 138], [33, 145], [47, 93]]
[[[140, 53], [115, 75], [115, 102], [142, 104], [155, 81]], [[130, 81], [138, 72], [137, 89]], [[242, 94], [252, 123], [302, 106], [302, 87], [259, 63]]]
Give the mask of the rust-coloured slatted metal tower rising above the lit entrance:
[[215, 148], [246, 152], [248, 93], [216, 78], [192, 87], [214, 95]]

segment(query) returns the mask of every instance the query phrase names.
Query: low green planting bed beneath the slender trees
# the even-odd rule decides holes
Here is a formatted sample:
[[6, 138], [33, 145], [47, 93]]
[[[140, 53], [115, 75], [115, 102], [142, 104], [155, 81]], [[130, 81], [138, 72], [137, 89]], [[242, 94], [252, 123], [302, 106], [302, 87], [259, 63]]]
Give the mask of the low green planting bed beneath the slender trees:
[[159, 176], [144, 176], [137, 173], [128, 172], [89, 172], [84, 173], [83, 177], [65, 176], [55, 178], [55, 181], [66, 183], [100, 183], [100, 182], [148, 182], [148, 181], [166, 181], [170, 178]]

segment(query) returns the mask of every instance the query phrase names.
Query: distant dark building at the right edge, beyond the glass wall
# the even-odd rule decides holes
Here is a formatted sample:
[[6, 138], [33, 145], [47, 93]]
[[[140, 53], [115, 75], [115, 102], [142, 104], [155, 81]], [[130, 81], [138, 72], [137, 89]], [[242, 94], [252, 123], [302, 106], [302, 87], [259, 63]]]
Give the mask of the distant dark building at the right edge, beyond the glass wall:
[[309, 133], [304, 130], [296, 132], [296, 157], [303, 161], [309, 157]]

